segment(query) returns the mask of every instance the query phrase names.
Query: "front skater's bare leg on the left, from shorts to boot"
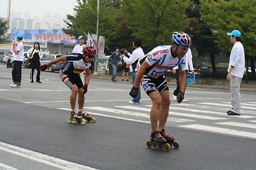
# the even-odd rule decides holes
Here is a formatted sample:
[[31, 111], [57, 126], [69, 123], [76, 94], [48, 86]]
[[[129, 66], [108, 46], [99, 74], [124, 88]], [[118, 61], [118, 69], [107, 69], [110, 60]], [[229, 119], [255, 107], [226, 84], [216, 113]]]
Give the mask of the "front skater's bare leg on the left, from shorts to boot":
[[153, 104], [150, 111], [151, 128], [152, 128], [152, 132], [155, 132], [158, 130], [157, 123], [158, 123], [159, 109], [161, 107], [162, 98], [158, 91], [154, 91], [150, 93], [149, 97], [151, 98], [152, 104]]

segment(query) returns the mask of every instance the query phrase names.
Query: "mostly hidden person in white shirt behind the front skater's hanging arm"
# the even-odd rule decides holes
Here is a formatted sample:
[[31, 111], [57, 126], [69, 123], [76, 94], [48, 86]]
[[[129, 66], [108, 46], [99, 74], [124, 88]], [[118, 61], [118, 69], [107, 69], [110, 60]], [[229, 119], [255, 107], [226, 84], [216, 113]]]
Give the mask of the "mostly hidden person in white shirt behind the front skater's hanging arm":
[[[190, 69], [191, 72], [195, 75], [194, 72], [194, 67], [193, 67], [193, 61], [192, 61], [192, 52], [191, 49], [188, 50], [187, 54], [186, 54], [186, 79], [188, 79], [188, 70]], [[175, 66], [172, 70], [172, 73], [175, 73], [176, 75], [176, 84], [177, 84], [177, 88], [173, 91], [173, 98], [175, 99], [180, 91], [180, 85], [179, 85], [179, 67]], [[187, 83], [186, 83], [187, 86]], [[185, 86], [185, 90], [186, 90], [186, 86]], [[185, 95], [185, 93], [184, 93]], [[185, 98], [183, 98], [182, 102], [188, 102], [188, 100], [186, 100]]]

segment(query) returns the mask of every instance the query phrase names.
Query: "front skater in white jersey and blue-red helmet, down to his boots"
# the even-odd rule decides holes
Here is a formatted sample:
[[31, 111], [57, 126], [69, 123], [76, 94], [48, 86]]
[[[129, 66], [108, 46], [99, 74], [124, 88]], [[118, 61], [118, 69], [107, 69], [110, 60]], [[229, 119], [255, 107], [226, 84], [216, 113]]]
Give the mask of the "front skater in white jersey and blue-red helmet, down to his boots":
[[141, 59], [140, 70], [138, 70], [134, 86], [130, 92], [131, 97], [136, 96], [141, 82], [147, 95], [151, 98], [153, 105], [150, 111], [152, 128], [150, 140], [158, 143], [166, 143], [166, 141], [175, 139], [164, 131], [170, 105], [170, 93], [164, 73], [175, 66], [179, 66], [180, 92], [177, 95], [178, 103], [183, 99], [186, 86], [185, 55], [191, 46], [191, 38], [186, 33], [174, 32], [172, 41], [173, 45], [158, 46], [148, 52], [144, 59]]

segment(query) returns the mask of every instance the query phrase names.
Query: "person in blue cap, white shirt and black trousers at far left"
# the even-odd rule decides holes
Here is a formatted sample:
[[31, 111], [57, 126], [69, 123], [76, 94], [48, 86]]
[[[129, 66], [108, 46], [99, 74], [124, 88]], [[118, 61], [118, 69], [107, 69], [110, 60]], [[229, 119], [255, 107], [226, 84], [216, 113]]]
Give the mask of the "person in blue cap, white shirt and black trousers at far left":
[[19, 42], [15, 48], [15, 56], [13, 58], [13, 70], [12, 70], [12, 80], [13, 84], [10, 85], [12, 88], [20, 88], [21, 83], [21, 65], [24, 59], [24, 46], [22, 43], [23, 36], [21, 34], [16, 36], [16, 40]]

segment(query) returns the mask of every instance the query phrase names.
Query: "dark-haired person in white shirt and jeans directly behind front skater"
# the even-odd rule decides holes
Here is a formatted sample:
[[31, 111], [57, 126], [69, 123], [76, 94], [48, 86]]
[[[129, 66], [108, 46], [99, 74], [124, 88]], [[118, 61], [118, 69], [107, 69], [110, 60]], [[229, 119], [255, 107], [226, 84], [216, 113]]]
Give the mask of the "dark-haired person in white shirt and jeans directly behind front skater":
[[[142, 40], [141, 38], [134, 38], [132, 45], [134, 47], [134, 50], [132, 51], [132, 54], [127, 52], [127, 50], [125, 50], [125, 52], [127, 53], [127, 55], [129, 56], [129, 58], [127, 58], [127, 56], [125, 56], [125, 54], [120, 54], [122, 56], [122, 58], [124, 59], [125, 63], [127, 63], [128, 65], [130, 65], [130, 71], [131, 71], [131, 75], [132, 75], [132, 85], [135, 82], [136, 79], [136, 75], [137, 75], [137, 64], [138, 64], [138, 60], [140, 60], [141, 58], [143, 58], [145, 56], [143, 49], [141, 49], [141, 43]], [[129, 104], [140, 104], [140, 86], [138, 87], [138, 94], [134, 97], [132, 97], [132, 100], [129, 101]]]

